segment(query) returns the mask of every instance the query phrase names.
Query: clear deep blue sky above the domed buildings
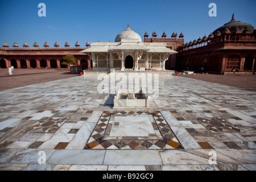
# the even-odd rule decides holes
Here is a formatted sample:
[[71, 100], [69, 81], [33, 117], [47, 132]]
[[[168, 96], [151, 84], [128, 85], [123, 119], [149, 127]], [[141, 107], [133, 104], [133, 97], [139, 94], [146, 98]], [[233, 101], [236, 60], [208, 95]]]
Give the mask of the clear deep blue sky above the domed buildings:
[[[46, 17], [39, 17], [39, 3], [46, 4]], [[216, 3], [217, 16], [210, 17], [209, 3]], [[26, 42], [39, 47], [47, 42], [53, 47], [58, 42], [64, 47], [67, 41], [75, 47], [89, 42], [114, 42], [115, 36], [127, 28], [137, 32], [143, 40], [156, 31], [160, 38], [165, 31], [182, 31], [185, 42], [208, 36], [210, 32], [230, 21], [232, 14], [241, 22], [256, 27], [255, 0], [0, 0], [0, 46], [20, 47]]]

